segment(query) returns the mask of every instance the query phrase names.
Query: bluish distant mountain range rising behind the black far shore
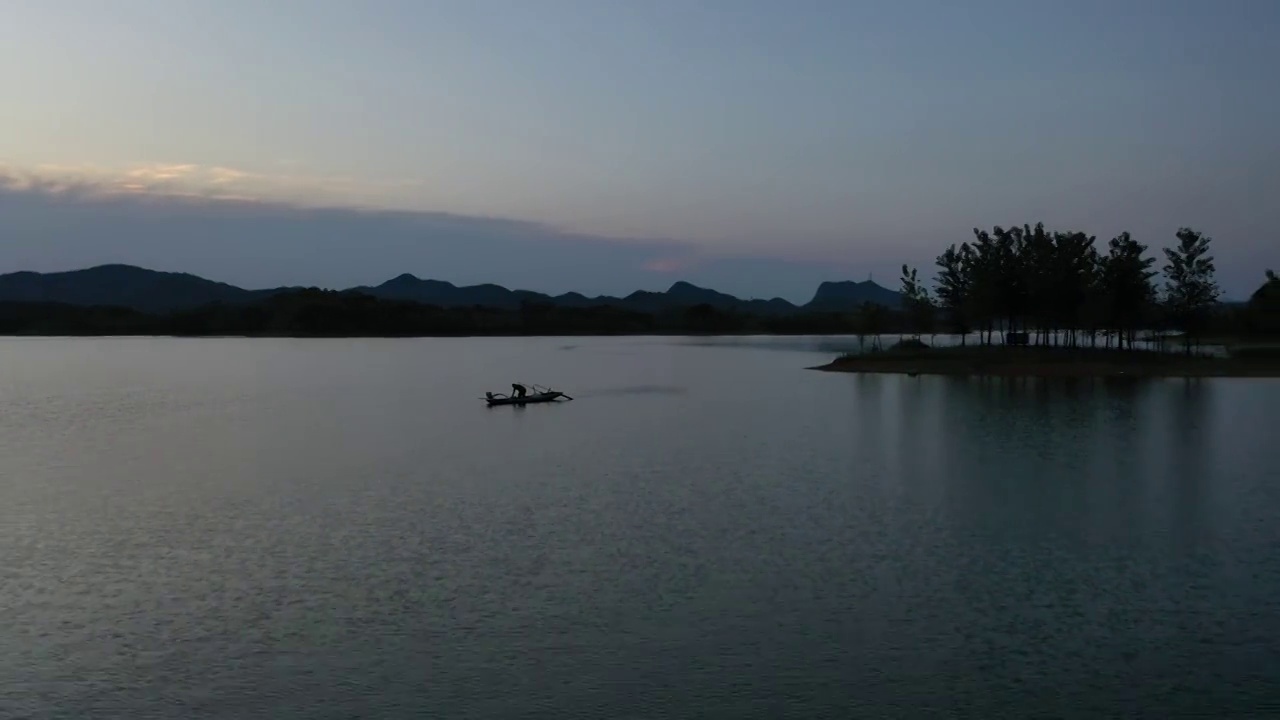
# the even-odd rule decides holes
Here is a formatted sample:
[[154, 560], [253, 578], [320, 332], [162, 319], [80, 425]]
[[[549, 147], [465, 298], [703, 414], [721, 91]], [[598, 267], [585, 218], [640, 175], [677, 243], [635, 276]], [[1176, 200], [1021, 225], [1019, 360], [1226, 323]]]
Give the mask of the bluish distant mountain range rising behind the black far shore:
[[[133, 265], [99, 265], [61, 273], [9, 273], [0, 275], [0, 302], [61, 302], [81, 306], [118, 306], [142, 313], [174, 313], [210, 304], [251, 304], [280, 292], [302, 290], [279, 287], [244, 290], [209, 281], [188, 273], [165, 273]], [[677, 282], [666, 292], [636, 291], [626, 297], [586, 297], [577, 292], [545, 295], [527, 290], [507, 290], [498, 284], [458, 287], [444, 281], [420, 279], [402, 274], [379, 286], [352, 287], [384, 300], [407, 300], [440, 307], [485, 306], [500, 310], [520, 309], [524, 304], [550, 304], [564, 307], [614, 306], [643, 313], [710, 305], [753, 315], [788, 315], [796, 313], [844, 313], [864, 302], [897, 307], [897, 292], [865, 282], [824, 282], [813, 300], [794, 305], [781, 297], [773, 300], [741, 300], [732, 295]]]

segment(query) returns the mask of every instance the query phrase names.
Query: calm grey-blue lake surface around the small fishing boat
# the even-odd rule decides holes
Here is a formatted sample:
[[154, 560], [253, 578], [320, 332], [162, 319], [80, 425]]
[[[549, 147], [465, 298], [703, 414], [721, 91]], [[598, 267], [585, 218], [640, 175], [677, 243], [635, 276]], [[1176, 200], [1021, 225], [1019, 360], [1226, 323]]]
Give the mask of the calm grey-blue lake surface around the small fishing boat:
[[0, 717], [1276, 716], [1280, 382], [850, 346], [0, 340]]

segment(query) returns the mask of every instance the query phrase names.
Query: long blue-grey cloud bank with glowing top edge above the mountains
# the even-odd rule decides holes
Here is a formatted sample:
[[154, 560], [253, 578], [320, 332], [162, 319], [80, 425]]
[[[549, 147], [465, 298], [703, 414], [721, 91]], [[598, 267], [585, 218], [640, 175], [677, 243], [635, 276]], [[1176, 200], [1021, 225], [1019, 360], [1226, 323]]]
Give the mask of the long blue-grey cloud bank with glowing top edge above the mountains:
[[[744, 296], [796, 300], [806, 300], [822, 279], [838, 279], [828, 277], [829, 266], [712, 258], [675, 240], [273, 199], [255, 191], [262, 176], [237, 168], [41, 170], [0, 167], [0, 272], [127, 263], [243, 287], [349, 287], [413, 273], [460, 284], [588, 295], [666, 290], [672, 279], [686, 279]], [[340, 186], [348, 178], [326, 179]]]

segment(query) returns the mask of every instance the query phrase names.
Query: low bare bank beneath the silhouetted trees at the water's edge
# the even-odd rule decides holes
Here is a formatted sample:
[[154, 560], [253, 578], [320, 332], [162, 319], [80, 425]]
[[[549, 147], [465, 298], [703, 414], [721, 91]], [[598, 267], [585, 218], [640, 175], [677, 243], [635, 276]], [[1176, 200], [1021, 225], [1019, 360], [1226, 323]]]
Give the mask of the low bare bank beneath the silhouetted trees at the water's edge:
[[813, 369], [909, 375], [1280, 378], [1280, 351], [1202, 357], [1088, 347], [908, 347], [845, 355]]

